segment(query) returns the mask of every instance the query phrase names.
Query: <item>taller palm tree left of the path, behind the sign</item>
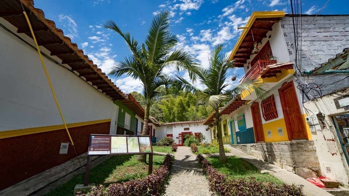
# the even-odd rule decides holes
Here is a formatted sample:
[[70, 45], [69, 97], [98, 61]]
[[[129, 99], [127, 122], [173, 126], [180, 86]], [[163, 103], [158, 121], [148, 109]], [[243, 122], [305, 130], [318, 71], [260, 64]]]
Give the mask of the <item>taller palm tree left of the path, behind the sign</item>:
[[[151, 99], [158, 94], [156, 88], [165, 86], [166, 89], [173, 82], [173, 78], [164, 73], [169, 66], [176, 66], [177, 71], [191, 69], [196, 66], [194, 58], [183, 49], [175, 49], [178, 39], [170, 32], [170, 12], [162, 11], [154, 16], [145, 44], [139, 45], [138, 41], [130, 33], [121, 32], [120, 28], [112, 20], [104, 24], [105, 28], [112, 29], [124, 38], [126, 45], [131, 50], [131, 55], [116, 63], [109, 73], [110, 77], [122, 75], [139, 79], [143, 84], [143, 95], [146, 101], [143, 135], [148, 131], [149, 108]], [[191, 77], [195, 78], [190, 71]], [[139, 161], [146, 161], [146, 155], [139, 155]]]

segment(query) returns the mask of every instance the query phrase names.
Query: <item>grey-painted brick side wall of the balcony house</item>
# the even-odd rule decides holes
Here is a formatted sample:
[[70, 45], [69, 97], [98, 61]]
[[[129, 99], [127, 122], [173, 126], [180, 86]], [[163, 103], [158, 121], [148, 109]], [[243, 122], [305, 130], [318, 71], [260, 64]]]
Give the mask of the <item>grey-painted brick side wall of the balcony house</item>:
[[[341, 53], [344, 48], [349, 48], [349, 15], [348, 16], [302, 16], [302, 25], [299, 24], [299, 36], [302, 36], [298, 42], [298, 53], [301, 52], [301, 57], [297, 57], [297, 64], [303, 69], [302, 71], [314, 70], [315, 67], [320, 67], [321, 63], [328, 62], [329, 58], [335, 58], [336, 54]], [[313, 20], [314, 19], [314, 20]], [[296, 62], [296, 49], [294, 39], [294, 28], [292, 17], [285, 16], [281, 21], [284, 38], [289, 50], [290, 58]], [[308, 26], [309, 25], [309, 26]], [[302, 32], [300, 34], [300, 32]], [[302, 45], [302, 48], [300, 46]], [[295, 68], [296, 70], [296, 68]], [[297, 82], [299, 84], [328, 85], [335, 81], [339, 81], [348, 76], [348, 74], [337, 75], [311, 75], [300, 76], [297, 74]], [[304, 96], [304, 102], [320, 97], [320, 95], [329, 94], [335, 90], [347, 87], [349, 78], [343, 79], [335, 85], [324, 86], [321, 92], [307, 88], [305, 91], [307, 96]]]

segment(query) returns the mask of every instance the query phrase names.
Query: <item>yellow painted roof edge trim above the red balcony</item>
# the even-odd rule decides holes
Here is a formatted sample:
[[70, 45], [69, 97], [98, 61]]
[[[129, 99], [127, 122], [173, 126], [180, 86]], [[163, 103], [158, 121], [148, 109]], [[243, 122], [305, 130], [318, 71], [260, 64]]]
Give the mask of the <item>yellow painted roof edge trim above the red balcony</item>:
[[254, 11], [246, 24], [247, 28], [243, 30], [238, 41], [236, 42], [235, 47], [231, 51], [229, 60], [232, 60], [233, 56], [238, 51], [242, 41], [245, 39], [247, 32], [251, 29], [256, 18], [278, 18], [278, 17], [284, 17], [284, 16], [285, 16], [284, 11]]

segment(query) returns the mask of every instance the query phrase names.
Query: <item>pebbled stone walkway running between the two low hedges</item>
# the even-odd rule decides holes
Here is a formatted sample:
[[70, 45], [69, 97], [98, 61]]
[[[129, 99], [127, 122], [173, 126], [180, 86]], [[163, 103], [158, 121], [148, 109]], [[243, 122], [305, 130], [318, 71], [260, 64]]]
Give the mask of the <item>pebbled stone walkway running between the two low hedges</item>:
[[170, 184], [166, 188], [166, 195], [211, 195], [208, 181], [198, 167], [189, 147], [179, 146], [174, 153], [174, 163], [171, 169]]

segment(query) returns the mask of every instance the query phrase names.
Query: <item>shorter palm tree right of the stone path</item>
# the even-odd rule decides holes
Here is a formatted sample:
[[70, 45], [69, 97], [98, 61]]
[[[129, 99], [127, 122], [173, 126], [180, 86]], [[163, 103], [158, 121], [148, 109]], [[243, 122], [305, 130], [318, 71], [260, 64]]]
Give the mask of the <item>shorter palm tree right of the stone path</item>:
[[177, 76], [178, 79], [174, 81], [174, 86], [177, 86], [178, 90], [186, 89], [187, 91], [192, 91], [196, 94], [198, 96], [198, 99], [196, 100], [196, 108], [203, 105], [207, 110], [215, 111], [219, 158], [220, 161], [226, 162], [227, 158], [225, 157], [223, 147], [219, 108], [222, 106], [223, 102], [238, 98], [242, 91], [251, 92], [252, 89], [258, 97], [263, 96], [266, 91], [263, 88], [263, 83], [256, 79], [247, 79], [233, 87], [231, 90], [224, 90], [229, 86], [225, 81], [227, 79], [227, 71], [229, 68], [235, 68], [235, 66], [233, 60], [229, 60], [228, 56], [220, 53], [222, 48], [222, 44], [218, 44], [214, 48], [210, 56], [209, 68], [192, 68], [192, 71], [195, 72], [199, 82], [207, 87], [205, 90], [202, 91], [201, 89], [196, 88], [193, 84], [180, 76]]

